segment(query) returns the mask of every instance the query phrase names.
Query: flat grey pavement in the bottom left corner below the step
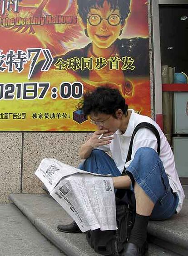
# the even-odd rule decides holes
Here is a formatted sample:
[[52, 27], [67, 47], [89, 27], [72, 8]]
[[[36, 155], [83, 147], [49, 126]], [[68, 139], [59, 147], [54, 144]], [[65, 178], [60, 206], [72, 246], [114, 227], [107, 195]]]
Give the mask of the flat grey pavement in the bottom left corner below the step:
[[64, 256], [13, 204], [0, 204], [0, 256]]

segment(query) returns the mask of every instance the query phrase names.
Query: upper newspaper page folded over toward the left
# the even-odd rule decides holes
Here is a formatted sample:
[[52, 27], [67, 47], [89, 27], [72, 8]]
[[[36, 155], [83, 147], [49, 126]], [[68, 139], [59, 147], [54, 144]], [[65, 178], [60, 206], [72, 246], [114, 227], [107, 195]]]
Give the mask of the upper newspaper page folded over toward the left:
[[[54, 187], [65, 176], [72, 175], [74, 173], [89, 173], [77, 169], [73, 166], [66, 165], [53, 158], [45, 158], [40, 162], [38, 169], [35, 171], [35, 175], [44, 183], [49, 192], [53, 191]], [[99, 175], [90, 173], [92, 175]], [[103, 176], [103, 175], [100, 175]], [[107, 175], [111, 176], [111, 174]]]

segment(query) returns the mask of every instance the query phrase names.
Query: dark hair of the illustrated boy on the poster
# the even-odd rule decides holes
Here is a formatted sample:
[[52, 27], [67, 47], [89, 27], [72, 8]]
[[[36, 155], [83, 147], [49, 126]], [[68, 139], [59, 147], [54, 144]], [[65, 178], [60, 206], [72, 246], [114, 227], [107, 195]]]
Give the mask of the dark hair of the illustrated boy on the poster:
[[[121, 16], [122, 24], [124, 24], [124, 20], [127, 19], [130, 13], [130, 2], [131, 0], [107, 0], [110, 4], [111, 9], [119, 9], [119, 13]], [[86, 23], [87, 16], [92, 7], [103, 7], [104, 0], [77, 0], [78, 5], [78, 13], [82, 18], [83, 22]]]

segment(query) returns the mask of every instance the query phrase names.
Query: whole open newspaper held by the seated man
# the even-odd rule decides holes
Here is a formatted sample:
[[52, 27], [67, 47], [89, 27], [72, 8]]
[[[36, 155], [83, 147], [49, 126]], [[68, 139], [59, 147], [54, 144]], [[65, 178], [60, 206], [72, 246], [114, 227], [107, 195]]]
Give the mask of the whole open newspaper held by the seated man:
[[55, 159], [43, 159], [35, 175], [82, 232], [117, 229], [114, 186], [109, 175], [82, 171]]

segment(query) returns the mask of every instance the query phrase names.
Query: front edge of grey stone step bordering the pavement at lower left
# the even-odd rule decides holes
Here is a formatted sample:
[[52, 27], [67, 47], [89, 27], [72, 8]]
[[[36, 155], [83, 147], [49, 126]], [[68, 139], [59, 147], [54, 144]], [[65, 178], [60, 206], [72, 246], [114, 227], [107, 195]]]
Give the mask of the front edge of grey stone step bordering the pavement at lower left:
[[64, 243], [62, 243], [62, 240], [58, 239], [57, 236], [54, 236], [53, 232], [48, 228], [45, 221], [41, 221], [35, 218], [34, 215], [28, 211], [26, 207], [22, 206], [19, 200], [14, 198], [14, 194], [10, 194], [9, 198], [15, 204], [15, 206], [17, 206], [20, 211], [30, 220], [36, 229], [40, 231], [40, 233], [49, 241], [51, 241], [57, 248], [59, 248], [68, 256], [78, 256], [78, 252], [73, 251], [72, 247], [68, 246], [69, 242], [67, 242], [66, 239], [64, 239]]

